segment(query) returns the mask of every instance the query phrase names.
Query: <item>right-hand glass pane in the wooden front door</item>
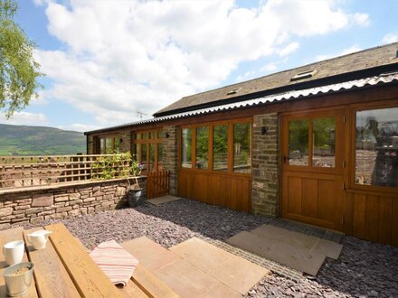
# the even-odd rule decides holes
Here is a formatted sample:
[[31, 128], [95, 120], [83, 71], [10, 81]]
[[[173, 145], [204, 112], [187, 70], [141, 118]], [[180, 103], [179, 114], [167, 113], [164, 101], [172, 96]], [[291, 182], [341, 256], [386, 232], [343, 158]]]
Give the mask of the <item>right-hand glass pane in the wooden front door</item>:
[[335, 166], [335, 117], [315, 118], [312, 123], [313, 154], [312, 165], [319, 167]]

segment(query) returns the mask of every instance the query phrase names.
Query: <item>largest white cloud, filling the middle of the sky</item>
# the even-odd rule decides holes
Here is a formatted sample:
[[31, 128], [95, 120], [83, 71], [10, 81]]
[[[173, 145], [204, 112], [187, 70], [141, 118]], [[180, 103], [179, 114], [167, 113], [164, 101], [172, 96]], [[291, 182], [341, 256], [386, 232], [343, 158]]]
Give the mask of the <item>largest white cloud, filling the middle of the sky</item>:
[[299, 47], [289, 42], [295, 36], [326, 34], [365, 19], [326, 0], [270, 0], [251, 9], [232, 1], [36, 4], [46, 5], [48, 30], [65, 49], [35, 53], [52, 79], [43, 98], [90, 112], [100, 126], [132, 121], [137, 110], [152, 114], [217, 87], [242, 61], [277, 49], [289, 55]]

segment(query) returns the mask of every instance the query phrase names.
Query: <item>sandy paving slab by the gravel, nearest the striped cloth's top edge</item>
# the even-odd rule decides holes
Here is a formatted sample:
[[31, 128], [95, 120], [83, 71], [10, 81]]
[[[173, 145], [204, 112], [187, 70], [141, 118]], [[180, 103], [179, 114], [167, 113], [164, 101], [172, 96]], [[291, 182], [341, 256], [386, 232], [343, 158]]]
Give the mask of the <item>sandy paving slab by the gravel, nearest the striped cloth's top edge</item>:
[[179, 256], [145, 236], [128, 240], [121, 244], [121, 247], [135, 256], [139, 264], [149, 271], [155, 271], [180, 259]]

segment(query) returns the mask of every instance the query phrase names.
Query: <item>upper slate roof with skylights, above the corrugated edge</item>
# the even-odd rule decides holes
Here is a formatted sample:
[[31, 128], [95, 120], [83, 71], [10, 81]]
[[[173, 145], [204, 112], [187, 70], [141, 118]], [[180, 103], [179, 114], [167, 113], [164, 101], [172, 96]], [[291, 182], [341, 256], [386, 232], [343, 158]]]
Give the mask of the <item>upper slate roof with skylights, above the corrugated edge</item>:
[[[280, 88], [284, 88], [285, 90], [308, 88], [311, 86], [311, 83], [312, 87], [314, 87], [319, 86], [322, 82], [336, 83], [349, 79], [365, 78], [366, 75], [364, 75], [364, 72], [366, 72], [366, 70], [370, 71], [382, 66], [393, 67], [393, 64], [396, 64], [394, 66], [396, 70], [398, 67], [397, 56], [398, 42], [378, 46], [365, 51], [357, 51], [333, 59], [311, 63], [296, 69], [280, 71], [258, 79], [251, 79], [242, 83], [181, 98], [175, 101], [175, 103], [157, 111], [154, 116], [166, 116], [200, 107], [211, 107], [226, 102], [239, 101], [250, 95], [261, 96], [261, 92], [262, 95], [265, 95], [267, 92], [280, 92]], [[307, 79], [290, 80], [298, 73], [308, 70], [316, 70], [316, 73]], [[359, 74], [359, 72], [361, 72], [361, 74]], [[351, 74], [351, 77], [347, 77], [348, 74]], [[368, 72], [367, 76], [378, 74], [380, 74], [380, 72]], [[232, 89], [238, 90], [236, 93], [228, 94]]]

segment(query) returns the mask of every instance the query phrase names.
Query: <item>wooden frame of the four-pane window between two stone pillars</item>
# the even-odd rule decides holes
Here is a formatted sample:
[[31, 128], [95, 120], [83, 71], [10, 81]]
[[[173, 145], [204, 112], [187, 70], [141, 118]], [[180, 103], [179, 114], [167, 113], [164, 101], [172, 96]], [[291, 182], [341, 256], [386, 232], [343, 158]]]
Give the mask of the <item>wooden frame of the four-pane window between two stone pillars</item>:
[[[249, 123], [251, 125], [251, 172], [233, 172], [233, 125], [234, 124], [242, 124], [242, 123]], [[213, 127], [214, 126], [228, 126], [228, 171], [217, 171], [213, 170]], [[196, 128], [197, 127], [204, 127], [207, 126], [209, 128], [209, 161], [207, 169], [196, 169]], [[193, 131], [192, 134], [192, 167], [191, 168], [183, 168], [181, 166], [181, 146], [182, 146], [182, 130], [185, 128], [191, 128]], [[252, 152], [253, 152], [253, 118], [239, 118], [239, 119], [232, 119], [232, 120], [223, 120], [223, 121], [215, 121], [215, 122], [204, 122], [198, 123], [194, 125], [186, 125], [186, 126], [179, 126], [178, 127], [178, 142], [177, 142], [177, 168], [178, 171], [181, 172], [208, 172], [211, 174], [219, 174], [219, 175], [233, 175], [233, 176], [242, 176], [242, 177], [251, 177], [252, 174]]]

